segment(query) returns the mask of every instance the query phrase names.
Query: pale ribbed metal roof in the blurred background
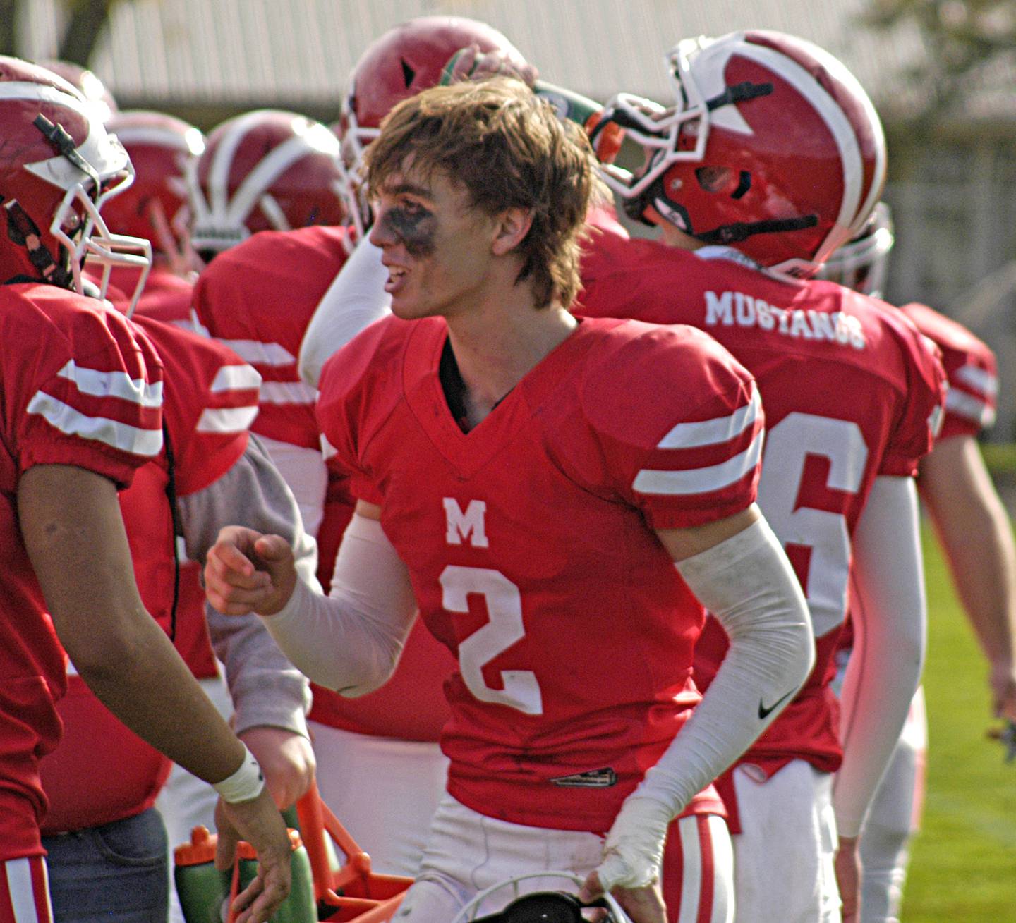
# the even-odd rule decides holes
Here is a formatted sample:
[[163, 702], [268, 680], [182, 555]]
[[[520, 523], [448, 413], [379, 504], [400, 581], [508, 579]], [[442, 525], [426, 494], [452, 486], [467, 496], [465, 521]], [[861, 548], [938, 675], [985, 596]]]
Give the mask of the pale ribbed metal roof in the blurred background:
[[[662, 55], [679, 39], [776, 28], [841, 58], [883, 106], [906, 105], [896, 77], [923, 54], [912, 31], [875, 34], [866, 0], [133, 0], [114, 7], [91, 68], [117, 98], [326, 108], [363, 49], [403, 19], [452, 13], [507, 35], [554, 83], [594, 98], [668, 92]], [[54, 0], [25, 7], [23, 47], [53, 57]]]

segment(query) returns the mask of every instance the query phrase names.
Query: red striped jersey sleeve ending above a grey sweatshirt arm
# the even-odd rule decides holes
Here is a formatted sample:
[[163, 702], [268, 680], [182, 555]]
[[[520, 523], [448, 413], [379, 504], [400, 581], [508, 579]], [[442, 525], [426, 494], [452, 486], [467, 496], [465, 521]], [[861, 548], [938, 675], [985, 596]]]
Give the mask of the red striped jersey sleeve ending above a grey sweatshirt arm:
[[166, 366], [176, 491], [186, 497], [214, 483], [243, 455], [261, 377], [221, 343], [150, 318], [136, 323]]

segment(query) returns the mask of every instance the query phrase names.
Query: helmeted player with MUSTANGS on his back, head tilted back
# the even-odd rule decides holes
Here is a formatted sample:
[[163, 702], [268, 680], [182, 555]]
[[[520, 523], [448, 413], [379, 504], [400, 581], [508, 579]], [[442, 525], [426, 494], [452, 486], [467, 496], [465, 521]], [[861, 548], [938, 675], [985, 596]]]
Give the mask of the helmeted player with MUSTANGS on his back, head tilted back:
[[[634, 173], [608, 166], [605, 177], [658, 240], [594, 234], [579, 311], [693, 324], [756, 377], [767, 418], [759, 506], [805, 589], [817, 663], [720, 780], [737, 920], [838, 920], [836, 831], [856, 836], [919, 677], [913, 475], [932, 445], [943, 372], [902, 319], [802, 278], [856, 233], [882, 189], [881, 125], [853, 76], [811, 43], [767, 31], [683, 42], [666, 66], [669, 108], [621, 94], [600, 123], [644, 150]], [[864, 653], [840, 714], [828, 681], [851, 558]], [[708, 685], [725, 645], [710, 619], [696, 681]], [[844, 891], [850, 919], [855, 895]]]

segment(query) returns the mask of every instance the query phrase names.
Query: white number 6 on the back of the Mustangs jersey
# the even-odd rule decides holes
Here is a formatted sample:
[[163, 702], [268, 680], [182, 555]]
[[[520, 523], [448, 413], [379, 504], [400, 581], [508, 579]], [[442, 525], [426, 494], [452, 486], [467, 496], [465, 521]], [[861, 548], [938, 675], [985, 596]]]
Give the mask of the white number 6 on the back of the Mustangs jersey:
[[829, 459], [829, 489], [856, 493], [868, 447], [856, 423], [811, 413], [789, 413], [766, 435], [759, 507], [784, 548], [795, 544], [812, 550], [804, 589], [815, 637], [821, 638], [845, 616], [850, 538], [842, 514], [798, 506], [809, 455]]

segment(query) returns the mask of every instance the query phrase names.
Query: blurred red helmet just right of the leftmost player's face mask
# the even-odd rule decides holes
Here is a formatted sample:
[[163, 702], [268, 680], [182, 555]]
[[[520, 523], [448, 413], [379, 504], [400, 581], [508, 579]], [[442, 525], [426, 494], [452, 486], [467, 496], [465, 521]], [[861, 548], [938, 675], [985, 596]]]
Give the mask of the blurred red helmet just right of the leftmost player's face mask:
[[127, 148], [134, 183], [106, 207], [106, 223], [146, 238], [171, 272], [193, 262], [187, 240], [187, 164], [201, 155], [204, 136], [193, 125], [161, 112], [116, 113], [107, 123]]

